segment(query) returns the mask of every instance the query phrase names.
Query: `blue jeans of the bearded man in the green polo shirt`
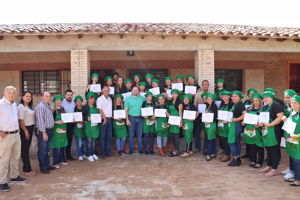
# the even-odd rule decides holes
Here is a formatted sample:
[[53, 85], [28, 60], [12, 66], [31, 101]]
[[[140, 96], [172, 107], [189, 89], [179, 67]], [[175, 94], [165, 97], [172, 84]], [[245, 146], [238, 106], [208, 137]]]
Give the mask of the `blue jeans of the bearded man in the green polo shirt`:
[[128, 143], [129, 143], [129, 150], [134, 150], [134, 132], [137, 133], [137, 148], [138, 150], [143, 150], [143, 118], [134, 118], [128, 117], [131, 123], [131, 126], [128, 126]]

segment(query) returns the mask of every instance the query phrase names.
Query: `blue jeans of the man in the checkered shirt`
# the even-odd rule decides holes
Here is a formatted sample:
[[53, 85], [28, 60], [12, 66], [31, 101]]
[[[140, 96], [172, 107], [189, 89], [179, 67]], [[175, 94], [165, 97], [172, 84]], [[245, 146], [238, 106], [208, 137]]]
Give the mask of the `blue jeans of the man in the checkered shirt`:
[[48, 152], [50, 151], [50, 146], [51, 146], [51, 135], [52, 131], [51, 130], [46, 130], [46, 134], [48, 136], [47, 141], [43, 141], [44, 137], [42, 132], [40, 132], [37, 135], [38, 139], [38, 162], [39, 162], [39, 167], [40, 169], [46, 169], [47, 167], [50, 167], [50, 157]]

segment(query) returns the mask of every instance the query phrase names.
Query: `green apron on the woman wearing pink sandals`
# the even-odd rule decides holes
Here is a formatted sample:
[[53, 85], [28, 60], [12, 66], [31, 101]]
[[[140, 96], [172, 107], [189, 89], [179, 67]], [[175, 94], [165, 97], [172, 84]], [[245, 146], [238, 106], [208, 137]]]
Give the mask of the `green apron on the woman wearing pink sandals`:
[[[274, 101], [271, 103], [268, 110], [260, 111], [260, 112], [268, 112], [270, 110], [271, 106], [273, 105], [273, 103], [274, 103]], [[271, 123], [272, 121], [273, 120], [270, 117], [269, 123]], [[263, 145], [265, 147], [271, 147], [271, 146], [278, 144], [276, 137], [275, 137], [274, 126], [271, 126], [271, 127], [265, 127], [265, 125], [262, 126], [262, 141], [263, 141]]]

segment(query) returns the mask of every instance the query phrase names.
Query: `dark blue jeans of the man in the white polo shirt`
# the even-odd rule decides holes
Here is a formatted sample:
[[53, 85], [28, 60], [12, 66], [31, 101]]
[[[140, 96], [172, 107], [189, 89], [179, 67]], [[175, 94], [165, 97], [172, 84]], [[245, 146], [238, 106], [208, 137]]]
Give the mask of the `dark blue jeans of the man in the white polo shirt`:
[[[102, 121], [103, 123], [103, 121]], [[108, 119], [105, 125], [99, 124], [99, 147], [101, 155], [109, 155], [113, 144], [112, 119]]]

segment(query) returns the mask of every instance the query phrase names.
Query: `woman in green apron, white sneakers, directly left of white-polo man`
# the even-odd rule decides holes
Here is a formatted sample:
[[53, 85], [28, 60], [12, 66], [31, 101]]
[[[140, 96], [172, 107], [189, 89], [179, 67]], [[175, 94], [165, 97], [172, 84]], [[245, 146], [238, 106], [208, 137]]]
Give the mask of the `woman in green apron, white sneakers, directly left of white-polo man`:
[[96, 139], [99, 138], [99, 126], [98, 123], [91, 123], [91, 114], [99, 114], [97, 106], [95, 103], [96, 95], [94, 92], [88, 92], [85, 99], [88, 103], [82, 106], [82, 119], [83, 132], [85, 133], [86, 139], [86, 154], [88, 156], [88, 161], [93, 162], [94, 159], [98, 160], [95, 155], [95, 144]]

